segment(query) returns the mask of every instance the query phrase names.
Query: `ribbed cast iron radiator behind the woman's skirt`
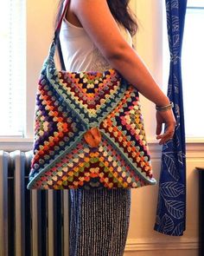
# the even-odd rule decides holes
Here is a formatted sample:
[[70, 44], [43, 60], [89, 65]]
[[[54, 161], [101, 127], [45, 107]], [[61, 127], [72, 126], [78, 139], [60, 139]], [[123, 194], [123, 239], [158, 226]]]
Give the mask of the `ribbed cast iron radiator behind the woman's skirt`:
[[31, 157], [0, 150], [0, 256], [68, 255], [68, 191], [28, 190]]

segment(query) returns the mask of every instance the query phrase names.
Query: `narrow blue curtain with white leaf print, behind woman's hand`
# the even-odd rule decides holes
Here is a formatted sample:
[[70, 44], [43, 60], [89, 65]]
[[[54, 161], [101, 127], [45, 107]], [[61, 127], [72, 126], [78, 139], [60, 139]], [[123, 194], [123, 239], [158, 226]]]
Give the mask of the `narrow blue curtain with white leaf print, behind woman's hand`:
[[181, 236], [186, 229], [186, 148], [182, 101], [182, 36], [187, 0], [166, 0], [170, 50], [168, 96], [176, 119], [173, 140], [163, 145], [156, 223], [159, 233]]

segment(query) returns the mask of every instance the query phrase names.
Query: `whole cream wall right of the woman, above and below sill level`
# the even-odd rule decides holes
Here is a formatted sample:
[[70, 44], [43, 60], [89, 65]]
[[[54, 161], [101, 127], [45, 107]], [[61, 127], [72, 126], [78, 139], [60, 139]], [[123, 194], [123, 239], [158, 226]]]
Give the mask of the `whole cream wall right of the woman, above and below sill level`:
[[[139, 22], [137, 52], [149, 67], [156, 82], [163, 85], [162, 0], [131, 0]], [[166, 24], [164, 24], [166, 25]], [[167, 56], [169, 57], [169, 56]], [[164, 87], [164, 86], [163, 86]], [[143, 99], [143, 115], [149, 138], [153, 170], [159, 181], [161, 148], [155, 140], [155, 106]], [[156, 218], [158, 182], [153, 187], [132, 190], [131, 226], [125, 256], [195, 256], [198, 254], [198, 174], [204, 167], [203, 143], [187, 145], [187, 228], [182, 237], [171, 237], [153, 230]]]

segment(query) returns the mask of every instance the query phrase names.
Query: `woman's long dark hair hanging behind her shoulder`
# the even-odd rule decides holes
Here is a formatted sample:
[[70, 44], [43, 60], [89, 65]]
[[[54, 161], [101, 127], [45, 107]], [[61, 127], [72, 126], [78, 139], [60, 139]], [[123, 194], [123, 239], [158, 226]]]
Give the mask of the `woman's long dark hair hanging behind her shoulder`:
[[[65, 0], [60, 0], [55, 24], [57, 24], [60, 19], [62, 3], [64, 1]], [[131, 36], [134, 36], [138, 28], [137, 18], [128, 7], [129, 2], [130, 0], [107, 0], [112, 16], [118, 21], [118, 23], [122, 24], [127, 30], [129, 30]]]

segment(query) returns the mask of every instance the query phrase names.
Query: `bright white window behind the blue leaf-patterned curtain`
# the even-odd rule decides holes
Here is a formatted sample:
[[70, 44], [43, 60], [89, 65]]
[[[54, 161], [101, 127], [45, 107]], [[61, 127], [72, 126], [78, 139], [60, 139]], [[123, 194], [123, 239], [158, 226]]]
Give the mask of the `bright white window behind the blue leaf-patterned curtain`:
[[[164, 11], [165, 12], [165, 11]], [[164, 17], [166, 19], [166, 16]], [[204, 0], [188, 0], [182, 43], [182, 88], [187, 137], [204, 137]], [[168, 81], [169, 58], [166, 20], [164, 20], [164, 76]]]

